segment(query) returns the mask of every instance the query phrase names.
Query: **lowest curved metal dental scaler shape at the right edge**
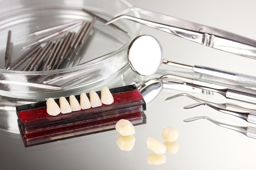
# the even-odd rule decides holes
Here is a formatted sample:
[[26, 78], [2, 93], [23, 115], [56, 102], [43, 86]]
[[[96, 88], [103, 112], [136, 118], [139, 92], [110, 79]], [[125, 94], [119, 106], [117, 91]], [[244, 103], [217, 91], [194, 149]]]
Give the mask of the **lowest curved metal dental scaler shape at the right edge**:
[[207, 119], [218, 126], [235, 130], [236, 132], [240, 132], [247, 137], [256, 139], [256, 128], [252, 126], [234, 126], [234, 125], [224, 124], [214, 119], [211, 119], [210, 117], [207, 117], [207, 116], [191, 117], [191, 118], [185, 119], [184, 122], [195, 121], [198, 119]]

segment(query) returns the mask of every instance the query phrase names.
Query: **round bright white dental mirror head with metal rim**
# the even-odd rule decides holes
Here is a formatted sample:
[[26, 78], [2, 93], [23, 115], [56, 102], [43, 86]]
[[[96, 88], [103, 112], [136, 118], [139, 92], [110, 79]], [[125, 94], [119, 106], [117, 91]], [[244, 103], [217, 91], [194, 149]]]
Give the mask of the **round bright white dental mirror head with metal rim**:
[[127, 57], [130, 67], [135, 73], [152, 75], [162, 64], [162, 46], [153, 36], [139, 35], [132, 40]]

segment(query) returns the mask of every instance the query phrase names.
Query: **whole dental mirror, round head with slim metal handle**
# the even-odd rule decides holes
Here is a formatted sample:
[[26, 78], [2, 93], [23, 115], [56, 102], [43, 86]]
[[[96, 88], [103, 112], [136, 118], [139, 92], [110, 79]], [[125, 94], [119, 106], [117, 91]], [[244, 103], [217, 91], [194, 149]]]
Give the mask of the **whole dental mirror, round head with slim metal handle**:
[[190, 66], [164, 60], [160, 42], [150, 35], [140, 35], [131, 42], [128, 49], [128, 61], [132, 66], [132, 70], [140, 75], [151, 75], [155, 73], [163, 63], [169, 66], [190, 69], [194, 72], [211, 75], [213, 77], [256, 86], [256, 77], [251, 75], [244, 75], [205, 66]]

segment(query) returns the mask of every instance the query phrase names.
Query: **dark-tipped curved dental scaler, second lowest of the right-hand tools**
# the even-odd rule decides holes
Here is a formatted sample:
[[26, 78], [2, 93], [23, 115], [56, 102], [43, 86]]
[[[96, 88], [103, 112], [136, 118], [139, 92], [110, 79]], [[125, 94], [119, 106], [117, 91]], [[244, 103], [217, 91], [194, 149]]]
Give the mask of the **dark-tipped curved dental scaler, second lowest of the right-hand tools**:
[[191, 105], [188, 105], [188, 106], [184, 106], [184, 108], [194, 108], [196, 106], [201, 106], [201, 105], [205, 105], [205, 106], [209, 106], [211, 108], [214, 108], [215, 110], [218, 110], [222, 113], [227, 113], [229, 115], [233, 115], [233, 116], [236, 116], [236, 117], [239, 117], [241, 119], [244, 119], [245, 121], [248, 121], [249, 123], [253, 123], [253, 124], [256, 124], [256, 112], [236, 112], [236, 111], [232, 111], [232, 110], [227, 110], [225, 108], [218, 108], [210, 103], [207, 103], [207, 102], [201, 102], [201, 103], [197, 103], [197, 104], [191, 104]]

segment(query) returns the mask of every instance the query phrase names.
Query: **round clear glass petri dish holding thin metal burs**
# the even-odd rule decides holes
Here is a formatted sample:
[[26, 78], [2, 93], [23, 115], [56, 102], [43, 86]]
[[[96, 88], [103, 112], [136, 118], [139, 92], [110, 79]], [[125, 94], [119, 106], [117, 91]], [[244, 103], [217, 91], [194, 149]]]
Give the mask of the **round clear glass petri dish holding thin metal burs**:
[[[118, 12], [131, 7], [124, 0], [13, 0], [3, 1], [1, 5], [0, 54], [4, 56], [7, 33], [11, 30], [9, 61], [14, 61], [24, 53], [22, 46], [45, 36], [20, 38], [22, 35], [74, 20], [90, 21], [92, 17], [82, 9], [110, 20]], [[129, 15], [139, 17], [136, 12], [130, 12]], [[28, 101], [69, 96], [103, 86], [124, 74], [129, 68], [128, 46], [140, 34], [141, 27], [135, 22], [120, 20], [116, 24], [127, 34], [103, 24], [99, 20], [95, 22], [83, 53], [67, 68], [20, 71], [26, 64], [24, 62], [17, 70], [6, 70], [2, 57], [0, 95]]]

